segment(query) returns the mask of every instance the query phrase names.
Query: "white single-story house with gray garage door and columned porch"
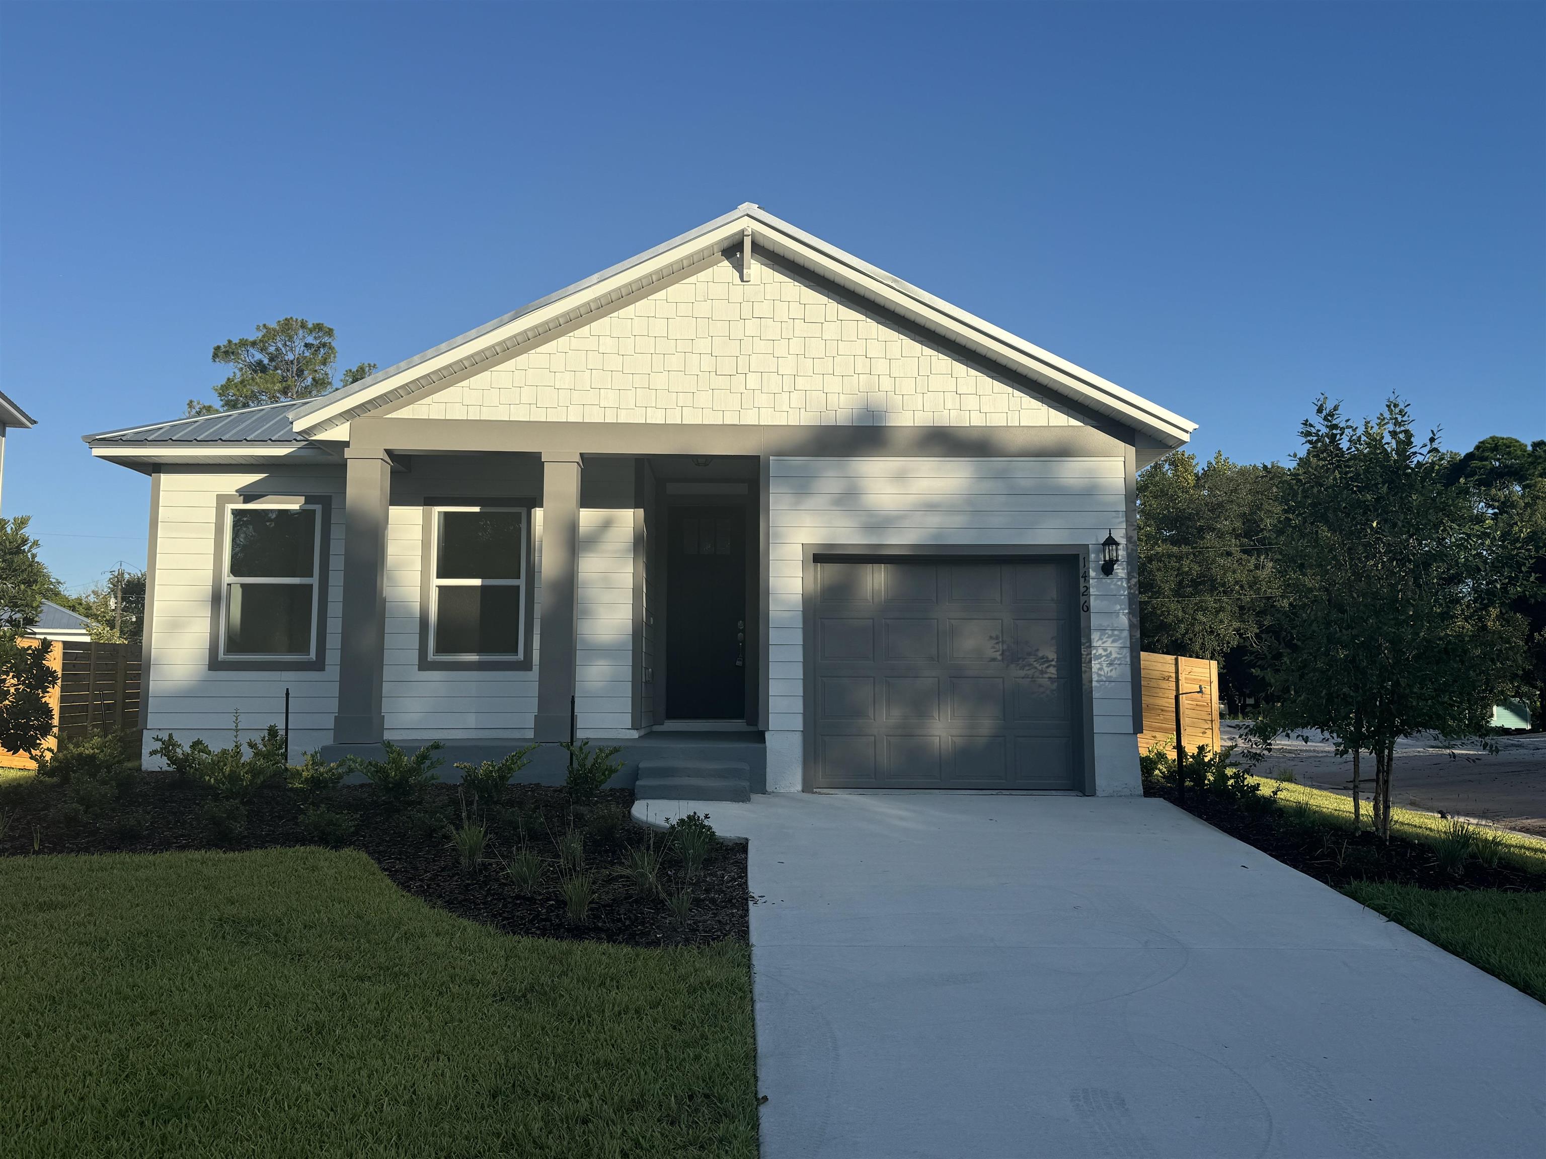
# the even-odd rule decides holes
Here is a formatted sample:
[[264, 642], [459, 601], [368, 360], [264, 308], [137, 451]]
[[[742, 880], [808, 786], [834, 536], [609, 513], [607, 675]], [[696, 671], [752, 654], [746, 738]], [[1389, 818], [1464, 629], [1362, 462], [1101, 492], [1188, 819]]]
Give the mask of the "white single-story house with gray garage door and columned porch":
[[574, 711], [640, 794], [1129, 794], [1135, 471], [1192, 430], [742, 206], [325, 397], [87, 442], [152, 476], [147, 737], [289, 689], [328, 756]]

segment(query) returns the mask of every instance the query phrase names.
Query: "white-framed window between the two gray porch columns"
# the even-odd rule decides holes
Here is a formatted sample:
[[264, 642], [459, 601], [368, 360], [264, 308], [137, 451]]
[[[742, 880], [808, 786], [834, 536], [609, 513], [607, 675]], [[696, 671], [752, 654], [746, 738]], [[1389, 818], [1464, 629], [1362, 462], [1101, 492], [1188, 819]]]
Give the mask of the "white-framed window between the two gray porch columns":
[[526, 508], [433, 508], [430, 658], [523, 660]]

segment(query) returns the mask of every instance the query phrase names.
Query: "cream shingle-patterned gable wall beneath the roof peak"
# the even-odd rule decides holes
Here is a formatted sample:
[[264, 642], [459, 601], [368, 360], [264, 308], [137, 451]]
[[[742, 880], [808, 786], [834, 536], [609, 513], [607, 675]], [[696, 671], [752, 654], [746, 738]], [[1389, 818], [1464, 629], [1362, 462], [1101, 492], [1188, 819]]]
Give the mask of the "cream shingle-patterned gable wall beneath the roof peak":
[[1065, 406], [725, 260], [399, 411], [417, 419], [1067, 427]]

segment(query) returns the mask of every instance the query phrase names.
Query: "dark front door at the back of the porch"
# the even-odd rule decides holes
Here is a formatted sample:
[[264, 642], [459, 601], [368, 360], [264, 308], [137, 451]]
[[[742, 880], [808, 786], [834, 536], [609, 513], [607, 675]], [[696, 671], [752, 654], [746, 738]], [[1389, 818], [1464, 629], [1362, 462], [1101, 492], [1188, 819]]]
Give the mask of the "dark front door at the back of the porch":
[[666, 719], [747, 712], [747, 516], [673, 507], [666, 535]]

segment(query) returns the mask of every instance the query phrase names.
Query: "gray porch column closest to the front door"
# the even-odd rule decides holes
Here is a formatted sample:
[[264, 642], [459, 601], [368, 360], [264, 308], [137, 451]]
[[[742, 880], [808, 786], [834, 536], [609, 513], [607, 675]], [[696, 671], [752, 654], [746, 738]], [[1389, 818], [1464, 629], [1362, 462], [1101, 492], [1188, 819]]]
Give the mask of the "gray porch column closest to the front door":
[[580, 647], [580, 453], [543, 451], [543, 604], [535, 740], [567, 740]]

